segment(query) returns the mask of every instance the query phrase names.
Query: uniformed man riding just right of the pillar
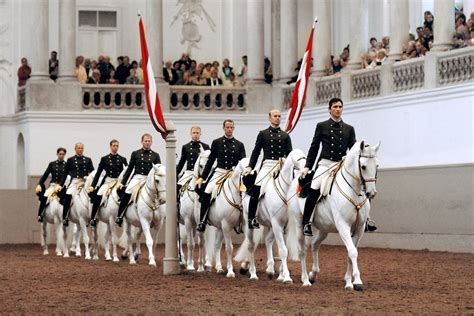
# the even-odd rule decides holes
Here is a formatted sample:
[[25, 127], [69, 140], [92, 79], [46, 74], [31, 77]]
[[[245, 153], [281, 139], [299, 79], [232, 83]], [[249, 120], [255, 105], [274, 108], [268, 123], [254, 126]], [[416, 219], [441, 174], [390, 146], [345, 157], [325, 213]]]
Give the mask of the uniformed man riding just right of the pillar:
[[[179, 192], [181, 187], [192, 177], [194, 164], [196, 163], [201, 150], [209, 149], [209, 145], [201, 142], [200, 138], [201, 128], [199, 126], [191, 127], [191, 141], [183, 145], [181, 149], [181, 158], [179, 159], [178, 165], [176, 166], [176, 174], [178, 175], [183, 169], [184, 164], [187, 163], [186, 170], [178, 180], [176, 192]], [[179, 200], [179, 194], [176, 194], [176, 197]]]

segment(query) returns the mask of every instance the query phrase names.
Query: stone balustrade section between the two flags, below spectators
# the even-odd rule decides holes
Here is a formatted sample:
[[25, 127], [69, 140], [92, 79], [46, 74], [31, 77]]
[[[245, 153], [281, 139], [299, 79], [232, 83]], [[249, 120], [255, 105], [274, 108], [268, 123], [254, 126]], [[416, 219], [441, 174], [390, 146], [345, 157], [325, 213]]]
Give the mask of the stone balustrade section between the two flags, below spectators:
[[170, 86], [171, 111], [243, 111], [247, 108], [245, 87]]

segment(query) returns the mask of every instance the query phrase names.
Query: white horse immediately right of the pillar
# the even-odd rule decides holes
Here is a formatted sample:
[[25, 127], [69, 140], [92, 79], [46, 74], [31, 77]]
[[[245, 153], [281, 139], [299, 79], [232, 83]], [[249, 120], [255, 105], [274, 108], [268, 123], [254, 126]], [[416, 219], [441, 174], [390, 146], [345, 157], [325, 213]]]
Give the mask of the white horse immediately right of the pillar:
[[[196, 210], [199, 211], [200, 203], [198, 195], [195, 192], [196, 189], [196, 180], [200, 177], [204, 167], [206, 166], [209, 155], [211, 154], [210, 150], [205, 150], [201, 152], [196, 163], [194, 164], [193, 175], [190, 178], [189, 182], [183, 185], [183, 188], [180, 192], [180, 215], [184, 221], [184, 228], [186, 230], [186, 248], [187, 248], [187, 260], [186, 260], [186, 269], [188, 271], [194, 271], [194, 234], [196, 232]], [[203, 240], [202, 236], [198, 234], [198, 249], [199, 249], [199, 259], [198, 259], [198, 272], [204, 271], [204, 259], [203, 259]]]

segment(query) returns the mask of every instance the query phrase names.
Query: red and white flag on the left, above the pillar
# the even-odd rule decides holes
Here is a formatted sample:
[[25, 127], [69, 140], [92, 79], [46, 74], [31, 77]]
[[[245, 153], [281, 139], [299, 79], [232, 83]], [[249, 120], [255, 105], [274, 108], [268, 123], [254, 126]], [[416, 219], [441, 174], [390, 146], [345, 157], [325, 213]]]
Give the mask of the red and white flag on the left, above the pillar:
[[150, 115], [151, 123], [153, 124], [155, 129], [161, 134], [164, 139], [166, 139], [166, 136], [168, 136], [168, 132], [166, 130], [163, 112], [161, 111], [160, 98], [158, 97], [158, 91], [156, 90], [155, 76], [153, 74], [153, 68], [151, 67], [150, 56], [148, 55], [145, 28], [143, 27], [143, 21], [141, 16], [138, 22], [138, 28], [140, 29], [143, 79], [145, 80], [145, 95], [148, 115]]

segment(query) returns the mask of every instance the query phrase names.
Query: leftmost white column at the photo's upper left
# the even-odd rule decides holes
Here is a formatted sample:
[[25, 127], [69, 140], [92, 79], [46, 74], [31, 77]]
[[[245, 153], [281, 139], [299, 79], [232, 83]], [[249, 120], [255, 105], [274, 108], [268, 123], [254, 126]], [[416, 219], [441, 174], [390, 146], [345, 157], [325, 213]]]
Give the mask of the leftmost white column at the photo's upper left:
[[24, 4], [24, 7], [31, 12], [26, 22], [28, 26], [31, 26], [28, 30], [31, 31], [29, 38], [32, 50], [27, 56], [32, 70], [30, 80], [49, 80], [49, 3], [48, 0], [29, 0]]

